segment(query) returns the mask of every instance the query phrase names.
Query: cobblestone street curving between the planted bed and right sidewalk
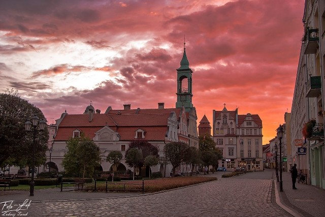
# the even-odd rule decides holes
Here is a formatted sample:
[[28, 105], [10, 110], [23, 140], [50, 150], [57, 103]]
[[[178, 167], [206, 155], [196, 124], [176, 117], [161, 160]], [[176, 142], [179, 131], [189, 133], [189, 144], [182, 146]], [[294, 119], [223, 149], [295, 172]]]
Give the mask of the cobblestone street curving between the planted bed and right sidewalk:
[[258, 172], [158, 194], [31, 203], [28, 215], [291, 216], [275, 203], [271, 178], [272, 172]]

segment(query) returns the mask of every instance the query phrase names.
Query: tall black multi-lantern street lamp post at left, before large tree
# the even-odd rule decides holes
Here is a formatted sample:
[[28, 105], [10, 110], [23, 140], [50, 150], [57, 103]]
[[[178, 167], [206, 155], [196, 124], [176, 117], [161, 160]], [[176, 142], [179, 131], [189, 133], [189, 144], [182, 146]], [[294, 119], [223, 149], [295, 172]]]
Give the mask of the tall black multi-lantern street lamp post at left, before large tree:
[[[35, 146], [36, 146], [36, 134], [38, 131], [43, 131], [46, 126], [45, 120], [40, 120], [39, 117], [34, 115], [31, 118], [31, 122], [26, 120], [25, 122], [25, 131], [30, 131], [30, 128], [33, 128], [32, 134], [32, 164], [31, 164], [31, 180], [30, 180], [30, 187], [29, 187], [29, 196], [34, 196], [34, 175], [35, 175]], [[39, 126], [39, 129], [37, 127]]]

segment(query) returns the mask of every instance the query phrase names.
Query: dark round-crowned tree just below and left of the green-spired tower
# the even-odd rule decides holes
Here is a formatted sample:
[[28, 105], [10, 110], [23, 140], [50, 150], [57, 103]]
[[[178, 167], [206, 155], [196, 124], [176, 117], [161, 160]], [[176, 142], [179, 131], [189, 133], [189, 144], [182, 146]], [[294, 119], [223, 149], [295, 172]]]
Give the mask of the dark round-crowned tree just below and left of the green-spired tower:
[[173, 176], [175, 176], [176, 167], [179, 167], [185, 160], [187, 147], [188, 144], [184, 142], [170, 142], [164, 147], [166, 158], [173, 166]]

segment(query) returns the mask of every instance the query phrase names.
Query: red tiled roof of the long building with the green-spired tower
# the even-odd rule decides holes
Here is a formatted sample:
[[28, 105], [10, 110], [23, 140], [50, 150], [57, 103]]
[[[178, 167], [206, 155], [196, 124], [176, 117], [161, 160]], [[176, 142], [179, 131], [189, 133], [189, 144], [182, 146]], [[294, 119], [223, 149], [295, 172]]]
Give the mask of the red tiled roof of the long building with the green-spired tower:
[[[117, 114], [121, 111], [120, 114]], [[167, 119], [171, 112], [177, 116], [180, 109], [140, 109], [136, 113], [132, 110], [110, 110], [108, 114], [93, 114], [93, 119], [89, 122], [89, 114], [67, 114], [58, 126], [58, 131], [54, 140], [66, 141], [73, 136], [73, 131], [78, 129], [86, 137], [92, 139], [95, 132], [105, 126], [116, 131], [120, 135], [120, 140], [132, 140], [135, 138], [136, 130], [144, 130], [147, 140], [164, 140], [167, 133]]]

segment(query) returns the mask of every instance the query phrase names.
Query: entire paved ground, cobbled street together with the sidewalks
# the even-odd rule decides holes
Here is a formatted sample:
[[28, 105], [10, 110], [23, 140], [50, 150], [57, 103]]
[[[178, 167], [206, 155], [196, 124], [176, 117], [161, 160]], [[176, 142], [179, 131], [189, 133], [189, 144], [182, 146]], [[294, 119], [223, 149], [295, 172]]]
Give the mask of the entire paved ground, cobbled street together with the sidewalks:
[[232, 178], [220, 178], [222, 174], [209, 174], [217, 176], [217, 181], [156, 194], [51, 189], [36, 190], [34, 197], [28, 192], [2, 192], [0, 202], [31, 200], [28, 209], [21, 211], [28, 211], [27, 216], [324, 216], [320, 204], [325, 191], [306, 184], [297, 184], [296, 191], [290, 189], [290, 173], [283, 174], [284, 192], [278, 192], [274, 170]]

